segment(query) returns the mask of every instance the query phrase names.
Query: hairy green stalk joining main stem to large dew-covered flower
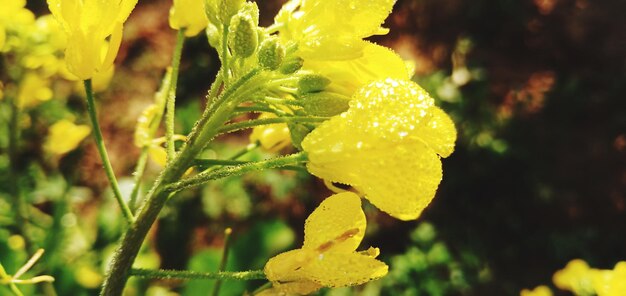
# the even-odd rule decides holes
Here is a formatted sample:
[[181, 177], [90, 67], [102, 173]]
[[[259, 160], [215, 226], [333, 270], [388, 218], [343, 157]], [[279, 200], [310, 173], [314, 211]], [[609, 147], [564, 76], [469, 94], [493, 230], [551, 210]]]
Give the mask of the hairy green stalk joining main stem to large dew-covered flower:
[[208, 181], [240, 176], [248, 172], [280, 168], [284, 166], [293, 166], [306, 162], [307, 155], [304, 152], [291, 154], [289, 156], [272, 158], [264, 161], [252, 163], [244, 163], [238, 166], [220, 167], [212, 170], [206, 170], [196, 176], [174, 182], [165, 186], [164, 190], [168, 192], [177, 192], [183, 189], [202, 185]]

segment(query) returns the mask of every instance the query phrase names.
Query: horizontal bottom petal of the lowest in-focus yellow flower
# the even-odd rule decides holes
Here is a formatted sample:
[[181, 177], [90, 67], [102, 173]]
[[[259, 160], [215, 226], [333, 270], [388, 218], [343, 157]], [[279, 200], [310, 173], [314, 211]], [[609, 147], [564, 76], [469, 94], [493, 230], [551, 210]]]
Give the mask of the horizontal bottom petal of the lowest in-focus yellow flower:
[[358, 253], [325, 253], [304, 267], [307, 278], [325, 287], [346, 287], [379, 279], [387, 274], [385, 263]]

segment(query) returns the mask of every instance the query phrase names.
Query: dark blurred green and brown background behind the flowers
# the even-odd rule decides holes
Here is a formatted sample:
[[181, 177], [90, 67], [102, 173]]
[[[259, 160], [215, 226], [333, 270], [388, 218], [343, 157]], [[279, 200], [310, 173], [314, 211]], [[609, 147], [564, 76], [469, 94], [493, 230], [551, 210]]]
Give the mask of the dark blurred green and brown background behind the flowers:
[[[283, 1], [257, 3], [267, 26]], [[140, 1], [125, 27], [112, 84], [98, 95], [107, 147], [127, 187], [139, 155], [132, 145], [137, 117], [171, 61], [170, 5]], [[29, 0], [28, 7], [47, 13], [43, 1]], [[457, 125], [456, 152], [443, 160], [443, 182], [419, 220], [400, 222], [366, 205], [363, 246], [381, 248], [390, 274], [365, 287], [320, 293], [516, 295], [552, 285], [552, 274], [573, 258], [607, 269], [625, 260], [624, 11], [621, 0], [399, 0], [385, 24], [391, 33], [372, 40], [415, 61], [415, 81]], [[199, 117], [218, 67], [206, 37], [185, 43], [179, 133]], [[46, 103], [31, 117], [61, 108], [85, 118], [81, 100]], [[46, 249], [35, 271], [55, 276], [58, 295], [93, 295], [122, 219], [93, 142], [51, 164], [41, 156], [42, 135], [45, 127], [35, 126], [23, 135], [20, 151], [20, 184], [31, 211], [47, 225], [45, 231], [32, 226]], [[248, 143], [247, 136], [223, 137], [211, 149], [231, 155]], [[0, 144], [6, 154], [6, 140]], [[3, 157], [0, 191], [6, 197]], [[158, 169], [151, 164], [149, 176]], [[169, 203], [137, 264], [214, 271], [223, 231], [232, 227], [229, 270], [262, 268], [277, 252], [299, 247], [304, 219], [329, 194], [307, 174], [274, 171], [183, 192]], [[0, 202], [0, 213], [10, 220], [6, 202]], [[24, 246], [11, 221], [0, 226], [0, 262], [19, 267], [27, 258]], [[260, 284], [226, 282], [222, 295]], [[129, 293], [206, 295], [212, 285], [134, 280]], [[53, 295], [50, 287], [32, 292]]]

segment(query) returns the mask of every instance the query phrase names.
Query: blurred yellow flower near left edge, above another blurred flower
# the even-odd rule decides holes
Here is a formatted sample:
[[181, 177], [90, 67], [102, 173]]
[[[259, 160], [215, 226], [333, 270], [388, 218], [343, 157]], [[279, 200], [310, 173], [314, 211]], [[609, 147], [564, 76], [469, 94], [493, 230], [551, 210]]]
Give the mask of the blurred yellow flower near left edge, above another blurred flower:
[[35, 107], [50, 98], [52, 98], [52, 90], [48, 79], [32, 72], [24, 75], [17, 95], [20, 108]]

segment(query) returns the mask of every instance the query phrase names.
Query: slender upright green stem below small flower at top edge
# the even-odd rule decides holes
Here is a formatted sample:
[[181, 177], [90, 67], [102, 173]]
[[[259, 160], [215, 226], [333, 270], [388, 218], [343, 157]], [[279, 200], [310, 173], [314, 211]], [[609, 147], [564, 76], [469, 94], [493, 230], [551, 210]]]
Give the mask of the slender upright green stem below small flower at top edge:
[[175, 110], [176, 110], [176, 85], [178, 84], [178, 69], [180, 67], [180, 56], [183, 51], [183, 43], [185, 43], [185, 28], [178, 30], [176, 35], [176, 47], [172, 56], [172, 78], [170, 90], [167, 98], [167, 113], [165, 114], [165, 137], [167, 139], [167, 162], [174, 159], [176, 149], [174, 147], [174, 126], [175, 126]]

